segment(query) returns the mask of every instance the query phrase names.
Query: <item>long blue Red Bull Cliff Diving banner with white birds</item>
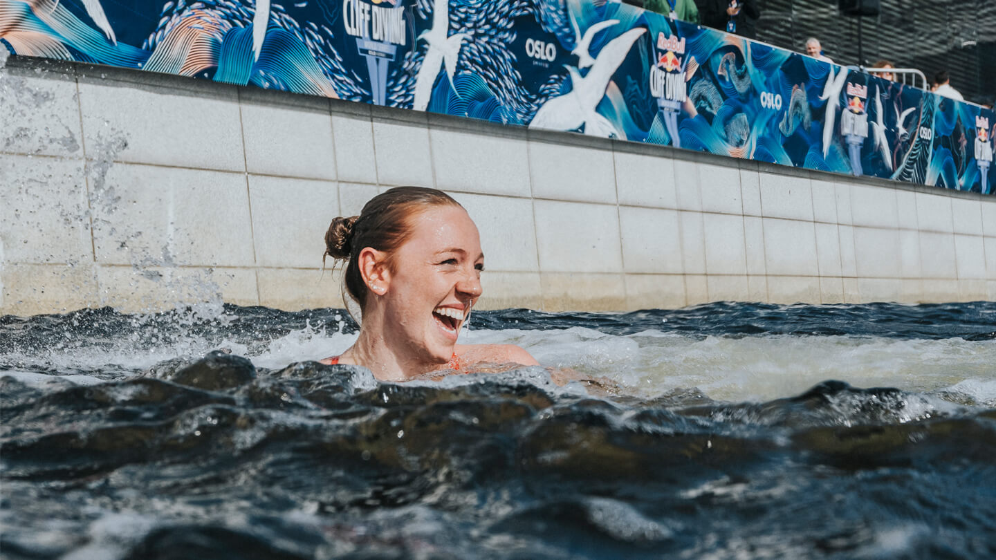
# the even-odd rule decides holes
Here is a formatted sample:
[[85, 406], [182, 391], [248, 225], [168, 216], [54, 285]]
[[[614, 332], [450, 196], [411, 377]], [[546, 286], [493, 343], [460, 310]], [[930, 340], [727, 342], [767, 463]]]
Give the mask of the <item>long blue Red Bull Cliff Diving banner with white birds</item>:
[[593, 0], [0, 0], [20, 56], [992, 193], [996, 116]]

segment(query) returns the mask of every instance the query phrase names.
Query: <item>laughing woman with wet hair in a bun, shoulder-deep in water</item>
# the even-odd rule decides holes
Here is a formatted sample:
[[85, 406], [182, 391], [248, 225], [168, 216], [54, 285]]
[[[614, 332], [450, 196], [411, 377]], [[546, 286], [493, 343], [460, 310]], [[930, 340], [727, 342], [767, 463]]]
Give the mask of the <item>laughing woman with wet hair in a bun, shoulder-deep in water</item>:
[[324, 364], [364, 366], [381, 381], [481, 364], [538, 365], [517, 346], [456, 344], [481, 296], [484, 253], [477, 226], [448, 194], [391, 188], [359, 216], [332, 220], [325, 242], [326, 255], [346, 261], [346, 291], [362, 324], [357, 342]]

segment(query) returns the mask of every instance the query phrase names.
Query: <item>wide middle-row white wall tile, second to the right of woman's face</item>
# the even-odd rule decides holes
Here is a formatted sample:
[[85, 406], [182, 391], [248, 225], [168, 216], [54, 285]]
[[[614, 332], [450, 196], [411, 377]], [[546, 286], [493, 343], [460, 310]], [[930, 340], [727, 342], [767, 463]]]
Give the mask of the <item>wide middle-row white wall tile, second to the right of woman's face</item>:
[[619, 214], [615, 205], [552, 200], [536, 200], [533, 205], [541, 270], [622, 271]]

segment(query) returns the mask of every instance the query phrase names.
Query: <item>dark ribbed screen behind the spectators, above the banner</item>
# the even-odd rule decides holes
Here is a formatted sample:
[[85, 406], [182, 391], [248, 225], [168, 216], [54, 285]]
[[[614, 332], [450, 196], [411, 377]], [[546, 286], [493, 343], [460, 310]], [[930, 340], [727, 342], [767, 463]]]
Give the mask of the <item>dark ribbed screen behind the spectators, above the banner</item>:
[[[836, 1], [759, 0], [757, 38], [805, 52], [820, 39], [842, 65], [858, 64], [858, 20], [842, 16]], [[862, 20], [866, 66], [879, 59], [916, 68], [930, 81], [940, 70], [966, 100], [991, 103], [996, 95], [996, 0], [881, 0], [881, 14]]]

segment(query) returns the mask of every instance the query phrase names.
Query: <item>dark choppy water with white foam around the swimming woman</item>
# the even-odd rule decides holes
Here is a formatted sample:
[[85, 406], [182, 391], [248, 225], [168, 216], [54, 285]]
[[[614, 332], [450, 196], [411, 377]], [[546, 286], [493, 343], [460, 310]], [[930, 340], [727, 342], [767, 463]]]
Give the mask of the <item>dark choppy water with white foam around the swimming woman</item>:
[[0, 318], [0, 554], [996, 557], [996, 303], [474, 314], [610, 397], [290, 364], [343, 315]]

